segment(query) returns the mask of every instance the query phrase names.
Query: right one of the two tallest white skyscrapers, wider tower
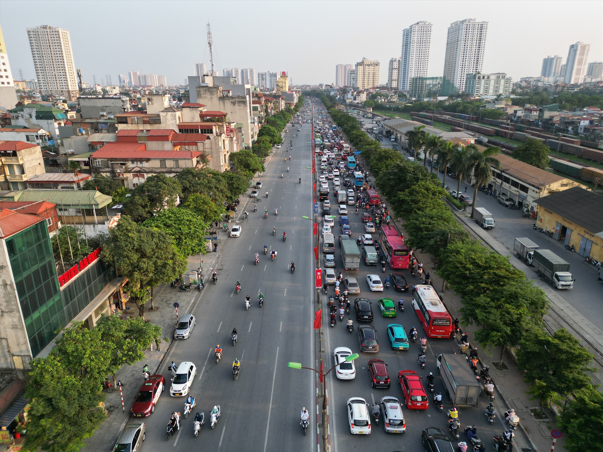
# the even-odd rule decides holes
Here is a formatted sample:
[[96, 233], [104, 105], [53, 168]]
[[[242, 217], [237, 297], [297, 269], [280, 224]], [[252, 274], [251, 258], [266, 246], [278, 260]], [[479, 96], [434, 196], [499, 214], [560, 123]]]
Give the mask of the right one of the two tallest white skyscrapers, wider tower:
[[482, 72], [488, 22], [458, 20], [448, 27], [444, 78], [459, 91], [465, 89], [467, 74]]

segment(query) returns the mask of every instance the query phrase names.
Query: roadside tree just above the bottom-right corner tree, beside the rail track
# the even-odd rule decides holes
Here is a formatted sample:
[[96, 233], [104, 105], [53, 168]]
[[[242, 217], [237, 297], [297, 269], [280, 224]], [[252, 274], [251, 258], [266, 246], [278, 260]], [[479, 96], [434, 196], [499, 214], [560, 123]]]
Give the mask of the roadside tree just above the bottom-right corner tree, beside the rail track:
[[578, 339], [565, 328], [552, 336], [544, 330], [525, 336], [517, 350], [517, 366], [523, 369], [529, 393], [543, 402], [558, 400], [589, 388], [589, 369], [593, 355], [581, 347]]

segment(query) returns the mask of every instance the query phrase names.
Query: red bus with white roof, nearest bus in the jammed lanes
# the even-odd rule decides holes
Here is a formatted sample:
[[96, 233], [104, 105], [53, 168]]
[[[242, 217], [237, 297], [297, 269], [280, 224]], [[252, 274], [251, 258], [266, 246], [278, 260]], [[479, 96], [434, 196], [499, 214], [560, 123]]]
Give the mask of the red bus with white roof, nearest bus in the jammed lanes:
[[452, 317], [433, 287], [419, 284], [412, 296], [412, 307], [428, 337], [450, 338]]

